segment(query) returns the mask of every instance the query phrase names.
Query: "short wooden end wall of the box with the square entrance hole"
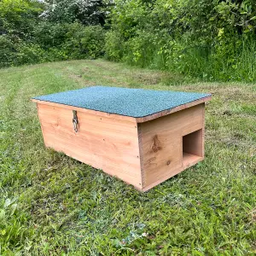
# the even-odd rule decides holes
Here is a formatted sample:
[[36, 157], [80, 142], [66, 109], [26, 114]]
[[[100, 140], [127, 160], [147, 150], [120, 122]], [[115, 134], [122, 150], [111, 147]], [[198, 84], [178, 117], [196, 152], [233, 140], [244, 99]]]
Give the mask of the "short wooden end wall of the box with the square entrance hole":
[[191, 162], [183, 164], [183, 136], [202, 129], [203, 111], [204, 103], [139, 124], [143, 190], [150, 189], [203, 159], [192, 155]]

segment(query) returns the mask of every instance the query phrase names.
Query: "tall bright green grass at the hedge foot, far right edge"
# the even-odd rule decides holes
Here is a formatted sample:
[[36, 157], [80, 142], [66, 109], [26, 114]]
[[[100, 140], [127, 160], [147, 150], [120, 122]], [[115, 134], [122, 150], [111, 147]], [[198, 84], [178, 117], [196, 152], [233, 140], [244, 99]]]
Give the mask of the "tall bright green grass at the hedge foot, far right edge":
[[169, 57], [167, 69], [207, 81], [256, 81], [256, 44], [253, 40], [242, 40], [237, 48], [226, 51], [218, 47], [185, 49], [177, 61]]

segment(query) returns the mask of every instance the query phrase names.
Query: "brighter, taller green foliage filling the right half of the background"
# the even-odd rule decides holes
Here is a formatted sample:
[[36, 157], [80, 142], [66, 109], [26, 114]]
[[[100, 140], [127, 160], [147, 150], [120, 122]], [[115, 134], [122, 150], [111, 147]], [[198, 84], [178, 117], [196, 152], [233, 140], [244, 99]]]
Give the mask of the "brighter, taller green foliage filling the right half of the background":
[[[256, 64], [248, 55], [256, 54], [253, 0], [117, 1], [110, 19], [110, 60], [207, 80], [256, 79]], [[122, 42], [122, 52], [113, 37]]]

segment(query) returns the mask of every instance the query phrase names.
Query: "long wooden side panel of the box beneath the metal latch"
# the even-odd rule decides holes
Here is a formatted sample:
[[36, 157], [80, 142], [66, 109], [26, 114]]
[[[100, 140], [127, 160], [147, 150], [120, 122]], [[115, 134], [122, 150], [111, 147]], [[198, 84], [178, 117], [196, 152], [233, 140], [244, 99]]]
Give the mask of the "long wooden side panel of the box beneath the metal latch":
[[73, 131], [73, 111], [38, 103], [46, 147], [102, 169], [142, 189], [136, 120], [113, 119], [78, 112], [79, 131]]

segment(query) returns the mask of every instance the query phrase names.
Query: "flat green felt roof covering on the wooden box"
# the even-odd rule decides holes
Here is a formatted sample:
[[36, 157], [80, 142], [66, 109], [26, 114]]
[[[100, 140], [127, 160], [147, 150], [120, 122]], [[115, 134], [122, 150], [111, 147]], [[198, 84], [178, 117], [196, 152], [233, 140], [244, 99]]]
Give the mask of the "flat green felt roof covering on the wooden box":
[[37, 96], [34, 99], [139, 118], [194, 102], [207, 96], [211, 95], [170, 90], [92, 86]]

